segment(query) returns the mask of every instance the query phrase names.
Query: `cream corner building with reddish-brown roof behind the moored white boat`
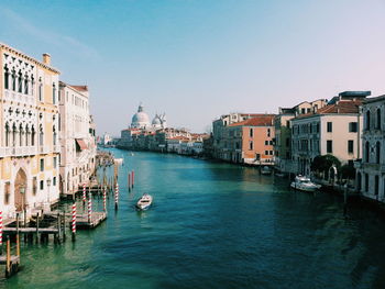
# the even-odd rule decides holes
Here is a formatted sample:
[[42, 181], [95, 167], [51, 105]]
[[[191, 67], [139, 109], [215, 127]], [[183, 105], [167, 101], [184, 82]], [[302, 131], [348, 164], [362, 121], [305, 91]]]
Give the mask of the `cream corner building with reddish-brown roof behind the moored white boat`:
[[[349, 91], [348, 91], [349, 92]], [[366, 98], [342, 92], [328, 105], [317, 111], [298, 115], [292, 125], [292, 168], [295, 174], [310, 176], [316, 156], [333, 155], [342, 164], [361, 158], [362, 113], [360, 105]]]

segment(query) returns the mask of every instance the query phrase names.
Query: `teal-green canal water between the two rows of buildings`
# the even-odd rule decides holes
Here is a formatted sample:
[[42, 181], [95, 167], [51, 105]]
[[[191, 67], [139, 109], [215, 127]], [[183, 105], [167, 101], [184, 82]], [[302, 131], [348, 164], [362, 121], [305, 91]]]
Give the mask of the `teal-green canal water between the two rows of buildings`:
[[[111, 151], [124, 158], [119, 211], [110, 198], [108, 220], [75, 244], [23, 244], [22, 271], [0, 286], [385, 288], [385, 220], [361, 204], [343, 218], [341, 199], [253, 168]], [[143, 192], [154, 205], [136, 212]]]

